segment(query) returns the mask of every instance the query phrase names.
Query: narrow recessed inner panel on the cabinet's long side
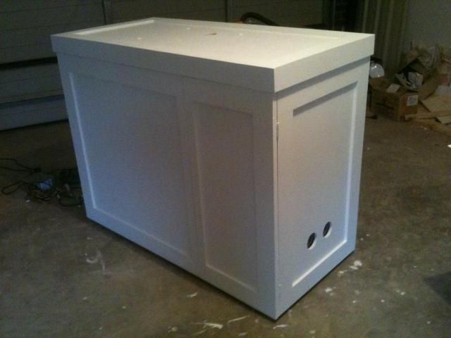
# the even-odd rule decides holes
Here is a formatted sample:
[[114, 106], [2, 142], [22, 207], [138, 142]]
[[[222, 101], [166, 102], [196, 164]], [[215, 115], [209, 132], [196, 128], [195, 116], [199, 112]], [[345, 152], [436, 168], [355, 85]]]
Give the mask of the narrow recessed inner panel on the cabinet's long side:
[[195, 106], [206, 265], [253, 289], [257, 248], [252, 115]]

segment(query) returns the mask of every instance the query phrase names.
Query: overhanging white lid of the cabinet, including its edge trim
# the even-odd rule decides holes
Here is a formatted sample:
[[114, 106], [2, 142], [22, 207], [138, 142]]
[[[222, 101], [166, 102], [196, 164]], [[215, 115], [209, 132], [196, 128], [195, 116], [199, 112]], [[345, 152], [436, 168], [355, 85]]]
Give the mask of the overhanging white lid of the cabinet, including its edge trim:
[[373, 48], [373, 35], [162, 18], [53, 35], [52, 41], [62, 54], [265, 92], [364, 58]]

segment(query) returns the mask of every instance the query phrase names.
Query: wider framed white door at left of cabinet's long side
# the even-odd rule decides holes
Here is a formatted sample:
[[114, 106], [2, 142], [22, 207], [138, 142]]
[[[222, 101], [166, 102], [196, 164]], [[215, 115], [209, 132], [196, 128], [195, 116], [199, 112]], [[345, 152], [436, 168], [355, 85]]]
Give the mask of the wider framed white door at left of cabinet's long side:
[[180, 78], [60, 58], [87, 215], [196, 272]]

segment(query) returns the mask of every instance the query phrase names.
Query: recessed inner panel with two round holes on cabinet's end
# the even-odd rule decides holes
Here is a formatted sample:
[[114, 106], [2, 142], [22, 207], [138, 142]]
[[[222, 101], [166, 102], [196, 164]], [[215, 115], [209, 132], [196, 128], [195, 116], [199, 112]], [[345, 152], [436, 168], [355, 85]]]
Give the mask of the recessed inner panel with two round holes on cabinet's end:
[[351, 84], [292, 111], [293, 150], [281, 158], [291, 170], [280, 180], [292, 182], [281, 208], [290, 213], [293, 287], [347, 241], [354, 90]]

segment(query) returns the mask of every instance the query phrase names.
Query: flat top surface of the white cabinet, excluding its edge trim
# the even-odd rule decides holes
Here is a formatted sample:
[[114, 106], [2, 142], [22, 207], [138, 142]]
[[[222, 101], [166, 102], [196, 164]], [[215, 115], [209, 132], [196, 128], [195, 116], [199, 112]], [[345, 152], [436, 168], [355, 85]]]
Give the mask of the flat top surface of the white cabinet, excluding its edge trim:
[[262, 68], [278, 68], [370, 36], [165, 18], [137, 20], [56, 35]]

